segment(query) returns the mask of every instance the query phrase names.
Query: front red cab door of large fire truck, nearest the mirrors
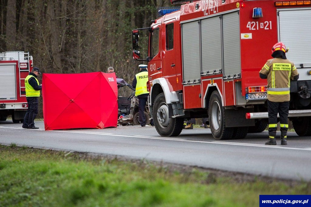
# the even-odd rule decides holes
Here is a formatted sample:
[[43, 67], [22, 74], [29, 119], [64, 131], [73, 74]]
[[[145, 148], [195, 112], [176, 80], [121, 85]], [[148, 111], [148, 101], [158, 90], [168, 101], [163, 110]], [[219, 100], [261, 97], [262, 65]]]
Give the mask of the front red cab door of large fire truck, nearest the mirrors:
[[162, 77], [160, 26], [160, 24], [156, 25], [150, 33], [149, 56], [151, 61], [148, 63], [149, 81]]

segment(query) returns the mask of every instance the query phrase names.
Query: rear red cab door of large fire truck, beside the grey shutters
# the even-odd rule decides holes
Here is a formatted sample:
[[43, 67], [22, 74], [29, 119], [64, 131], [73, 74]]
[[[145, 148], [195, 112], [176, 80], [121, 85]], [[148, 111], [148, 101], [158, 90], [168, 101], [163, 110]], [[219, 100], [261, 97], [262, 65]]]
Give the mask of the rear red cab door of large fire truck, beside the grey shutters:
[[176, 62], [175, 50], [176, 42], [174, 41], [174, 33], [177, 31], [175, 19], [165, 21], [165, 24], [162, 25], [162, 31], [165, 31], [165, 41], [162, 42], [165, 44], [163, 47], [163, 76], [169, 80], [169, 83], [174, 90], [177, 90], [177, 79], [176, 79], [176, 67], [180, 67], [179, 63]]

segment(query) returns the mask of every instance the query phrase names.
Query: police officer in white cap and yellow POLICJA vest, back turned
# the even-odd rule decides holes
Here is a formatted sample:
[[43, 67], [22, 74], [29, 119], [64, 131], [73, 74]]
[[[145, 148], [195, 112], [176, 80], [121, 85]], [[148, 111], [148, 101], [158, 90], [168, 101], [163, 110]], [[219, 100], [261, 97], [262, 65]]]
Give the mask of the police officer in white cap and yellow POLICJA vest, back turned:
[[135, 75], [132, 86], [136, 89], [135, 96], [138, 98], [139, 121], [142, 127], [146, 126], [144, 114], [149, 92], [147, 91], [148, 70], [147, 65], [138, 65], [140, 72]]

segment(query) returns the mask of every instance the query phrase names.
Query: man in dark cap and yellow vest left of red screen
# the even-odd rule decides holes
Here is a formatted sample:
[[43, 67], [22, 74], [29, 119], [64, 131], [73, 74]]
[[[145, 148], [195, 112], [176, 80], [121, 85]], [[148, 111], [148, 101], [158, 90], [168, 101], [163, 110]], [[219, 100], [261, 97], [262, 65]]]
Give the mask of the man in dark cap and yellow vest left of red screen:
[[40, 90], [42, 86], [39, 85], [37, 76], [41, 74], [39, 68], [34, 67], [29, 75], [25, 78], [26, 99], [28, 103], [28, 109], [24, 118], [23, 128], [26, 129], [38, 129], [35, 126], [34, 120], [38, 114], [38, 97], [40, 96]]

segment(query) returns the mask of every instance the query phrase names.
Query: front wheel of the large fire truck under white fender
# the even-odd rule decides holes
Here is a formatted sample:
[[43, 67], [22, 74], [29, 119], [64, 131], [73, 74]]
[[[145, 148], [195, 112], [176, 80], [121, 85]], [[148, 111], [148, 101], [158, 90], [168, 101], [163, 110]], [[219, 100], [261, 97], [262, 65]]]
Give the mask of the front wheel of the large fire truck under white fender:
[[169, 118], [169, 107], [164, 93], [160, 93], [153, 104], [153, 121], [156, 131], [163, 137], [178, 136], [183, 130], [183, 118]]

